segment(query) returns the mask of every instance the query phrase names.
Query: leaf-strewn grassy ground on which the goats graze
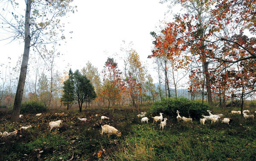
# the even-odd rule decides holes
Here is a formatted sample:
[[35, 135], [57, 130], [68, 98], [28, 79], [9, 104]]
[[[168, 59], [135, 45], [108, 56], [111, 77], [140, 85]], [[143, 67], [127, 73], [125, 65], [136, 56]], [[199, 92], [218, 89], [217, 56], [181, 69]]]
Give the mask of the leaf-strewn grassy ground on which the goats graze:
[[[110, 116], [110, 121], [101, 122], [94, 115]], [[227, 114], [227, 111], [213, 113]], [[240, 116], [232, 116], [230, 126], [217, 123], [201, 126], [198, 121], [192, 124], [177, 123], [168, 118], [164, 131], [159, 130], [159, 123], [142, 124], [136, 114], [129, 110], [116, 110], [111, 115], [106, 110], [88, 112], [70, 112], [66, 115], [46, 113], [40, 118], [24, 115], [19, 124], [9, 122], [10, 116], [0, 117], [0, 131], [13, 131], [20, 126], [31, 124], [33, 127], [22, 136], [0, 140], [0, 161], [41, 160], [113, 160], [113, 161], [255, 161], [256, 160], [256, 124], [245, 121]], [[87, 122], [77, 118], [86, 117]], [[165, 117], [165, 116], [164, 116]], [[49, 132], [50, 121], [64, 120], [59, 130]], [[110, 124], [122, 132], [117, 138], [100, 135], [101, 124]], [[239, 125], [242, 124], [242, 125]], [[38, 156], [36, 149], [44, 150]], [[99, 150], [105, 150], [97, 157]], [[26, 155], [24, 155], [26, 154]], [[94, 154], [94, 155], [93, 155]]]

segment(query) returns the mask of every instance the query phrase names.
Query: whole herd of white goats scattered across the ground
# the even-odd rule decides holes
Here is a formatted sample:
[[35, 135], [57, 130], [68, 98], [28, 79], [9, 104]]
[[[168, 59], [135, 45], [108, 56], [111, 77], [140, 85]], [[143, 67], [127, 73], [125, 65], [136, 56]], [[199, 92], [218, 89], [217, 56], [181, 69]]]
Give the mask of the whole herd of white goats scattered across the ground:
[[[205, 121], [209, 120], [211, 121], [211, 124], [212, 123], [215, 123], [215, 122], [218, 122], [218, 121], [221, 121], [221, 123], [225, 123], [225, 124], [229, 124], [230, 123], [230, 118], [224, 118], [224, 115], [223, 114], [218, 114], [218, 115], [213, 115], [210, 111], [210, 110], [207, 110], [207, 112], [209, 113], [209, 116], [205, 116], [205, 115], [202, 115], [203, 118], [200, 118], [200, 124], [204, 125], [205, 124]], [[247, 115], [247, 113], [249, 113], [250, 111], [249, 110], [244, 110], [243, 111], [243, 116], [244, 118], [252, 118], [254, 119], [254, 115]], [[141, 112], [141, 114], [137, 115], [138, 118], [141, 118], [141, 122], [147, 122], [149, 121], [149, 119], [147, 117], [145, 117], [147, 112]], [[256, 111], [255, 111], [256, 113]], [[167, 118], [164, 118], [163, 119], [163, 113], [159, 113], [160, 116], [155, 116], [155, 117], [151, 117], [153, 118], [153, 123], [157, 121], [160, 121], [160, 129], [162, 127], [162, 130], [164, 128], [164, 126], [166, 126], [166, 121], [167, 121]], [[240, 114], [241, 115], [241, 111], [231, 111], [231, 114]], [[36, 114], [35, 116], [39, 117], [41, 116], [42, 113], [38, 113]], [[55, 115], [64, 115], [64, 112], [58, 114], [58, 113], [55, 113]], [[96, 117], [99, 117], [99, 114], [96, 114], [95, 115]], [[20, 118], [22, 118], [23, 115], [20, 115]], [[179, 114], [179, 111], [177, 110], [177, 121], [184, 121], [184, 122], [192, 122], [192, 118], [186, 118], [186, 117], [181, 117], [180, 114]], [[106, 116], [101, 116], [101, 120], [105, 120], [105, 119], [108, 119], [108, 117]], [[79, 121], [87, 121], [87, 118], [78, 118]], [[163, 121], [162, 121], [163, 120]], [[56, 128], [56, 127], [60, 127], [61, 123], [63, 121], [62, 120], [58, 120], [58, 121], [51, 121], [49, 122], [49, 129], [50, 131], [53, 129], [53, 128]], [[23, 130], [27, 130], [29, 129], [30, 127], [32, 127], [31, 125], [29, 126], [22, 126], [20, 129], [15, 129], [15, 131], [13, 132], [0, 132], [0, 138], [5, 138], [5, 137], [9, 137], [9, 136], [16, 136], [17, 134], [21, 133]], [[109, 126], [109, 125], [104, 125], [104, 126], [101, 126], [102, 127], [102, 135], [103, 133], [106, 133], [108, 134], [108, 137], [109, 135], [116, 135], [116, 136], [121, 136], [121, 132], [119, 132], [116, 128], [114, 128], [113, 126]]]

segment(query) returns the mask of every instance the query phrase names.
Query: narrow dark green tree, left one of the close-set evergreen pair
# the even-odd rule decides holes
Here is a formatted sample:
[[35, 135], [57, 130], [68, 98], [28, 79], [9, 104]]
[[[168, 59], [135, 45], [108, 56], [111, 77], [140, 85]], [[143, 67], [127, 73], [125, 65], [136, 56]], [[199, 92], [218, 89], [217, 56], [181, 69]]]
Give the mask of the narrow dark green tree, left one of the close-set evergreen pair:
[[74, 101], [74, 78], [73, 72], [70, 69], [68, 73], [69, 78], [64, 81], [63, 86], [63, 95], [61, 96], [61, 101], [64, 102], [64, 105], [67, 105], [67, 110], [69, 109], [69, 105]]

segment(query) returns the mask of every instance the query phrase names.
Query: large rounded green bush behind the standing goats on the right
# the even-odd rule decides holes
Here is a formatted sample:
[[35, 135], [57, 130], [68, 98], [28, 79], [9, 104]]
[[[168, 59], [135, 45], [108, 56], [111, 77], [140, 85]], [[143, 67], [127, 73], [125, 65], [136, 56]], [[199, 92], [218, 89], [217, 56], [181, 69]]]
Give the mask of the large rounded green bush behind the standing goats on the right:
[[207, 115], [207, 109], [209, 105], [207, 103], [201, 103], [200, 101], [189, 101], [186, 98], [170, 98], [158, 101], [151, 106], [150, 112], [159, 115], [160, 112], [164, 115], [175, 117], [177, 116], [177, 110], [181, 116], [191, 117], [199, 120], [201, 115]]

